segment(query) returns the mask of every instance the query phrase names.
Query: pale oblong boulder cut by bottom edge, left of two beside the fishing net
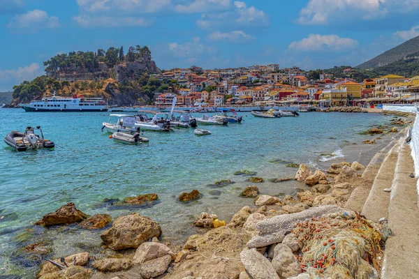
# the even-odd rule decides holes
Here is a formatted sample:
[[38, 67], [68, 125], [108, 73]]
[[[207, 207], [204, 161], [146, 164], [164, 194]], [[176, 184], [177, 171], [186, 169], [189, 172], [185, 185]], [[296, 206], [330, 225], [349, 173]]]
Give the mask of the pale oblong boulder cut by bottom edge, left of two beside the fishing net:
[[253, 279], [279, 279], [277, 271], [269, 259], [263, 257], [256, 249], [245, 249], [240, 252], [244, 269]]

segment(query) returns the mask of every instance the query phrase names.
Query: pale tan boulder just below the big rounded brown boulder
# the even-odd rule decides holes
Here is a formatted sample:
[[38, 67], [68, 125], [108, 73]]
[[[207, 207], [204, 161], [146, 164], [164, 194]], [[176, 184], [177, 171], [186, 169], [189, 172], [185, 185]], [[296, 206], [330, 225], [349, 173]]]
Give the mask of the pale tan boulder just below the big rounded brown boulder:
[[157, 259], [170, 255], [170, 257], [175, 257], [175, 253], [168, 248], [168, 246], [163, 243], [158, 242], [145, 242], [138, 246], [133, 257], [133, 264], [142, 264], [148, 262], [152, 259]]

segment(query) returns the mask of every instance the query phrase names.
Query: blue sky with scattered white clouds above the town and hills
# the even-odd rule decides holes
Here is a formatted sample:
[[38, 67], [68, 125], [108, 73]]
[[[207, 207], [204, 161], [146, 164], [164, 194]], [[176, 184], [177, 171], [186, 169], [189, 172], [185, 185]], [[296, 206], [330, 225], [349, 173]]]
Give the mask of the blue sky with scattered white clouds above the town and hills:
[[419, 36], [419, 0], [0, 0], [0, 91], [73, 50], [147, 45], [159, 68], [356, 66]]

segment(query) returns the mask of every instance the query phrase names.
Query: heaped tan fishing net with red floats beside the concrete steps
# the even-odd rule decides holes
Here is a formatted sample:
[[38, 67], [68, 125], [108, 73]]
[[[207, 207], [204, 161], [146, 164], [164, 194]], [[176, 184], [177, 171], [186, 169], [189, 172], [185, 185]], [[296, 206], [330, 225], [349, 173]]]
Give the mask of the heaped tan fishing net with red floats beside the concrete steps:
[[312, 218], [293, 234], [302, 248], [301, 269], [311, 278], [378, 278], [381, 233], [365, 218]]

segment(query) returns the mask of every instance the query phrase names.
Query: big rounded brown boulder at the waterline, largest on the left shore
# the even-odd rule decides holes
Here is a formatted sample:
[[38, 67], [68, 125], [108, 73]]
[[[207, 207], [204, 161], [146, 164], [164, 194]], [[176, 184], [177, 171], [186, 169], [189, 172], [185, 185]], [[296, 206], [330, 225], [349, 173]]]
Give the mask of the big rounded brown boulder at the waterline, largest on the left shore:
[[161, 227], [148, 217], [131, 213], [118, 217], [112, 227], [101, 234], [101, 239], [113, 250], [138, 248], [148, 239], [161, 234]]

